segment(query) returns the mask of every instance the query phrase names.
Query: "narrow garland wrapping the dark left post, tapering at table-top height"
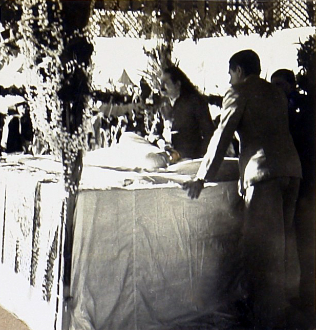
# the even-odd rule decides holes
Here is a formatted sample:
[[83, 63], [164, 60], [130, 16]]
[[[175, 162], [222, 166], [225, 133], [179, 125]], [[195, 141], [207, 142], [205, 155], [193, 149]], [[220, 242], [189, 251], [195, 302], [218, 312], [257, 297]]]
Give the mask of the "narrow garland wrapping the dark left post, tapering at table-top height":
[[[89, 3], [89, 16], [91, 17], [94, 0]], [[66, 190], [73, 196], [77, 192], [81, 176], [82, 154], [88, 149], [87, 132], [89, 132], [92, 117], [89, 100], [94, 69], [91, 63], [91, 53], [94, 49], [95, 33], [94, 29], [91, 29], [91, 23], [92, 20], [89, 19], [84, 28], [73, 31], [69, 31], [68, 25], [67, 32], [64, 33], [65, 49], [61, 55], [61, 57], [66, 57], [66, 63], [64, 63], [64, 84], [58, 92], [60, 98], [64, 100], [60, 149], [62, 150]], [[83, 48], [78, 49], [81, 46]], [[70, 93], [67, 92], [68, 88]], [[67, 107], [69, 107], [68, 110]], [[67, 118], [69, 114], [70, 117]], [[76, 118], [72, 118], [72, 116]]]

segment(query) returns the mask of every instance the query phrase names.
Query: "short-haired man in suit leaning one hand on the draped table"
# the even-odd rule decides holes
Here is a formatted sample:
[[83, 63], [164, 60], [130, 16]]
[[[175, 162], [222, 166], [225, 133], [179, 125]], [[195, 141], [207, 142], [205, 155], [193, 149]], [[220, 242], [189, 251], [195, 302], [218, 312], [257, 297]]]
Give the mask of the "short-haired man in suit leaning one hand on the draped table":
[[[240, 139], [240, 193], [244, 199], [243, 266], [247, 329], [309, 329], [293, 315], [289, 299], [299, 272], [293, 215], [302, 176], [288, 128], [287, 99], [260, 78], [257, 53], [243, 50], [229, 60], [231, 88], [223, 99], [219, 126], [195, 178], [183, 184], [198, 198], [204, 179], [217, 173], [236, 131]], [[297, 272], [295, 271], [297, 270]], [[296, 311], [296, 310], [295, 310]], [[297, 324], [290, 324], [296, 322]], [[299, 323], [299, 324], [298, 324]]]

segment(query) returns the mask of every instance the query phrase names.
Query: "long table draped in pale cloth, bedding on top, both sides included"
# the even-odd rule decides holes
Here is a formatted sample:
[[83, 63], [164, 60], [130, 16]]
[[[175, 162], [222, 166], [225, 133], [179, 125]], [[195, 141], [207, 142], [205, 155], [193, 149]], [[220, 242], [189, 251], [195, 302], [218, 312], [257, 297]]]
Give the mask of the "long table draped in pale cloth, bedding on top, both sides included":
[[244, 294], [237, 159], [224, 159], [191, 200], [181, 183], [200, 160], [145, 170], [139, 166], [157, 160], [155, 149], [137, 142], [130, 161], [127, 145], [85, 156], [67, 317], [62, 164], [52, 156], [0, 159], [0, 304], [34, 330], [68, 330], [69, 315], [71, 330], [226, 330], [226, 307]]

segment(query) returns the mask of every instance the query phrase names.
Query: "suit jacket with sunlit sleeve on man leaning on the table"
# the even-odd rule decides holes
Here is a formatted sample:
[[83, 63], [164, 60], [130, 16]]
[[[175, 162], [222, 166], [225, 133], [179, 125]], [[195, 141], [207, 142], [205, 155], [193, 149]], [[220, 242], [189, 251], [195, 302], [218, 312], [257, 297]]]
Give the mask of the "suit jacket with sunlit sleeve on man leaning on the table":
[[279, 176], [301, 177], [301, 163], [288, 125], [285, 95], [250, 75], [224, 96], [220, 123], [209, 142], [196, 175], [204, 179], [218, 171], [229, 142], [240, 138], [239, 171], [242, 188]]

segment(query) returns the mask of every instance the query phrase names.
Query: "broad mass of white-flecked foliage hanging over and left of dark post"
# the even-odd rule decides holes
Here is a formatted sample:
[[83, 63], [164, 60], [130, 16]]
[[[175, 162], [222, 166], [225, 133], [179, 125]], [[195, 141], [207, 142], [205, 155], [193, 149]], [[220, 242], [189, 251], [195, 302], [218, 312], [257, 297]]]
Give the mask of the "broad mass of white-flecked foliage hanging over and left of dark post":
[[[4, 27], [11, 31], [2, 51], [11, 55], [11, 49], [18, 49], [24, 55], [25, 98], [34, 133], [46, 153], [63, 160], [66, 191], [73, 192], [78, 186], [78, 179], [72, 176], [73, 163], [87, 149], [93, 35], [88, 29], [83, 31], [90, 11], [66, 24], [66, 16], [74, 12], [74, 4], [70, 8], [69, 3], [11, 2], [5, 18], [2, 15]], [[85, 3], [90, 9], [90, 2]], [[20, 16], [10, 14], [12, 11]]]

